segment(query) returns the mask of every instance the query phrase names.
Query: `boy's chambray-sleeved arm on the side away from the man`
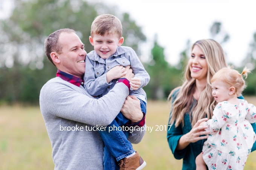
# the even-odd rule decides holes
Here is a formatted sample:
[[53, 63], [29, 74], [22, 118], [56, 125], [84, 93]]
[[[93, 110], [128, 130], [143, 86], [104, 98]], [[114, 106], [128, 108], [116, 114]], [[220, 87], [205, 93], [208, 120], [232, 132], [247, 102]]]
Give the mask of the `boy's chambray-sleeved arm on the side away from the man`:
[[130, 60], [131, 68], [133, 69], [134, 78], [138, 77], [141, 80], [139, 88], [146, 86], [150, 80], [148, 72], [145, 70], [139, 57], [132, 48], [127, 47], [125, 50], [127, 51], [126, 53], [129, 57], [128, 60]]

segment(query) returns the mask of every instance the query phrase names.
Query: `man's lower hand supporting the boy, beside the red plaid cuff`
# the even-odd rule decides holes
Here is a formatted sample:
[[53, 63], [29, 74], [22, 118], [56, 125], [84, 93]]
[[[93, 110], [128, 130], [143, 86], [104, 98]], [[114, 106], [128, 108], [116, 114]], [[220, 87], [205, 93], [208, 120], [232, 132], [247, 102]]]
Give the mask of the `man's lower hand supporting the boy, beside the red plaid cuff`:
[[137, 123], [143, 118], [143, 113], [140, 108], [140, 100], [136, 96], [127, 96], [125, 103], [121, 108], [123, 116], [131, 120], [131, 123]]

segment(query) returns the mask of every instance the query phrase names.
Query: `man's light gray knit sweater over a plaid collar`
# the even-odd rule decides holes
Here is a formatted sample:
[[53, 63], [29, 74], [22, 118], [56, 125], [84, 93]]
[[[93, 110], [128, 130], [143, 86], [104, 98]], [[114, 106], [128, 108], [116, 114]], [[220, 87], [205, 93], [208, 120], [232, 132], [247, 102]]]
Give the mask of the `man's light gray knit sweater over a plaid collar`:
[[[97, 131], [89, 130], [91, 125], [110, 124], [128, 94], [125, 84], [117, 83], [107, 95], [95, 99], [82, 86], [75, 86], [59, 77], [42, 87], [40, 109], [52, 144], [55, 170], [104, 169], [104, 143]], [[134, 131], [128, 140], [139, 143], [144, 134], [145, 131]]]

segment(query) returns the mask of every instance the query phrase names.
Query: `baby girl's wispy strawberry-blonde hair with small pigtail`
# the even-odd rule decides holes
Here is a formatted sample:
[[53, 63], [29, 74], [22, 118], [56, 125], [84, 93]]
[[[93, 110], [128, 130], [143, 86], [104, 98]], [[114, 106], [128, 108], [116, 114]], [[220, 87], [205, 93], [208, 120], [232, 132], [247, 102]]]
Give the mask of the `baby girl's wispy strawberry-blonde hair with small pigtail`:
[[241, 74], [239, 74], [238, 71], [232, 69], [232, 67], [222, 68], [213, 75], [211, 83], [216, 80], [222, 81], [229, 87], [235, 87], [234, 94], [236, 96], [241, 96], [242, 91], [246, 87], [243, 75], [245, 76], [245, 78], [247, 78], [247, 74], [250, 72], [250, 69], [247, 69], [246, 67], [244, 68]]

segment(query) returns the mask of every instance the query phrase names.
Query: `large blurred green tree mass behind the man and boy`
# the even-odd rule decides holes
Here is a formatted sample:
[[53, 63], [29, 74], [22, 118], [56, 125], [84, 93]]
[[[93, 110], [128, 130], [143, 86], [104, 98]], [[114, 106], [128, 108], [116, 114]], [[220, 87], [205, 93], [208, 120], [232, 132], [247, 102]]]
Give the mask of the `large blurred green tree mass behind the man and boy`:
[[[94, 18], [102, 13], [116, 14], [111, 7], [84, 0], [14, 2], [11, 17], [0, 22], [0, 100], [38, 104], [41, 87], [57, 71], [44, 54], [46, 37], [61, 28], [74, 29], [90, 52], [93, 46], [88, 38]], [[139, 53], [138, 44], [146, 39], [141, 28], [128, 14], [117, 15], [128, 39], [125, 43]], [[134, 41], [129, 41], [131, 37]]]

